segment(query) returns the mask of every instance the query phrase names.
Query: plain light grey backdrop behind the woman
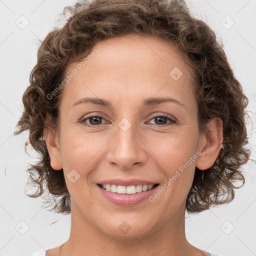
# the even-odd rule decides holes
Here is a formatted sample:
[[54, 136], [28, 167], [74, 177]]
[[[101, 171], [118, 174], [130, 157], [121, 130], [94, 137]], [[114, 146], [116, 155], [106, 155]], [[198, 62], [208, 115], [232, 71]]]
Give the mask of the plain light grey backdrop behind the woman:
[[[25, 169], [36, 157], [33, 150], [28, 150], [30, 155], [24, 154], [27, 133], [13, 136], [13, 131], [21, 115], [21, 97], [28, 85], [29, 73], [36, 63], [37, 39], [43, 39], [53, 28], [57, 14], [65, 5], [74, 2], [0, 0], [1, 256], [26, 255], [55, 247], [69, 236], [70, 215], [50, 213], [41, 208], [40, 198], [24, 194]], [[189, 0], [187, 3], [192, 13], [203, 19], [222, 39], [230, 65], [249, 99], [248, 110], [253, 125], [247, 125], [252, 160], [243, 167], [245, 185], [236, 190], [235, 199], [229, 204], [198, 215], [186, 214], [186, 236], [191, 244], [209, 252], [252, 256], [256, 254], [256, 0]], [[25, 18], [20, 18], [22, 15]], [[230, 26], [232, 20], [234, 24]], [[29, 24], [21, 29], [25, 22]], [[25, 231], [26, 225], [20, 221], [29, 227], [24, 234], [15, 228], [18, 226], [19, 231]]]

